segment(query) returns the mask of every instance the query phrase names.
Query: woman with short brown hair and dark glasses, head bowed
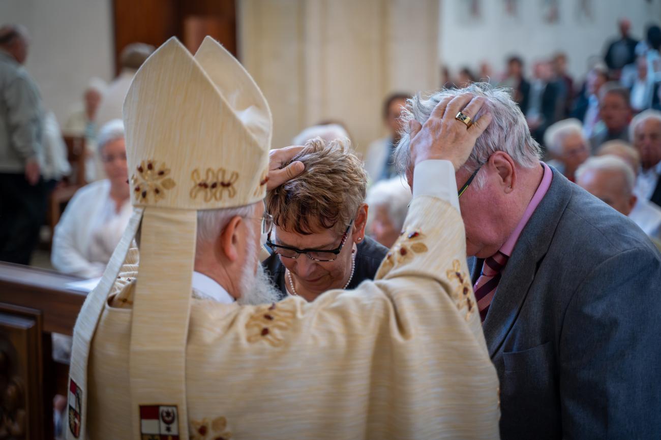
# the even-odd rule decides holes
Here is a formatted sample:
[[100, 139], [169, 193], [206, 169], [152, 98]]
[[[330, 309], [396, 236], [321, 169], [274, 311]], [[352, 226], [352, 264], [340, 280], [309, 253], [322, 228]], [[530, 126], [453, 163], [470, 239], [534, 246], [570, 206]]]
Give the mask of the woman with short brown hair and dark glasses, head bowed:
[[365, 237], [367, 176], [342, 140], [314, 139], [293, 158], [305, 171], [266, 195], [273, 254], [262, 264], [287, 295], [313, 301], [373, 279], [387, 248]]

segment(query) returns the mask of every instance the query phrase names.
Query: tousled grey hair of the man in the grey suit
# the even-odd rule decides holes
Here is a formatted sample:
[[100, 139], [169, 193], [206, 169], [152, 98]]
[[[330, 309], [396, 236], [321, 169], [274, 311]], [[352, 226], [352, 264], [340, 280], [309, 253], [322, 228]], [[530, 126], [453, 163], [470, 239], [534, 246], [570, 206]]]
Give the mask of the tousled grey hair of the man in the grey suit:
[[[399, 172], [406, 172], [411, 165], [408, 122], [414, 119], [420, 124], [424, 124], [438, 102], [447, 96], [459, 96], [466, 92], [486, 98], [485, 104], [473, 119], [479, 120], [482, 114], [488, 110], [493, 116], [493, 121], [477, 138], [475, 148], [462, 168], [474, 172], [479, 166], [485, 164], [496, 151], [504, 151], [512, 157], [515, 163], [525, 168], [539, 166], [541, 149], [537, 141], [530, 135], [524, 114], [512, 100], [512, 92], [509, 89], [493, 87], [488, 83], [473, 83], [463, 89], [441, 89], [427, 98], [423, 98], [418, 93], [407, 100], [407, 107], [401, 116], [403, 120], [401, 140], [395, 151], [395, 164]], [[461, 122], [457, 121], [457, 124], [461, 124]], [[484, 177], [480, 172], [475, 179], [475, 185], [481, 188], [483, 184]]]

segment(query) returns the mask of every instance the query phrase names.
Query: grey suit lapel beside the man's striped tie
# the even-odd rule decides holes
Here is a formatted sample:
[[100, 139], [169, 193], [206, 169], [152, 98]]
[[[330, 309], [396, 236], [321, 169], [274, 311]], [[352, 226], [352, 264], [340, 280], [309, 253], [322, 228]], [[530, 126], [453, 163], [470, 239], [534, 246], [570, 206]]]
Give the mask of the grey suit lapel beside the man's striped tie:
[[483, 330], [493, 357], [508, 335], [527, 297], [539, 262], [543, 260], [555, 229], [572, 195], [572, 183], [553, 170], [549, 191], [535, 209], [519, 237], [486, 314]]

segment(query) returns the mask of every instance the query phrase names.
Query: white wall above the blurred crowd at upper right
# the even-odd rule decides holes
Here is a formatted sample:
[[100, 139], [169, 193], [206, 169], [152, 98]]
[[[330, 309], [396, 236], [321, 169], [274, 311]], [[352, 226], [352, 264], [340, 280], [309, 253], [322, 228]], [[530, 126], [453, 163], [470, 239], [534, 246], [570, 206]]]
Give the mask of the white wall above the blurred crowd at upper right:
[[[618, 35], [617, 20], [631, 20], [631, 34], [644, 38], [650, 22], [661, 22], [661, 2], [656, 0], [446, 0], [441, 2], [440, 59], [453, 74], [469, 67], [475, 74], [488, 61], [496, 73], [505, 69], [510, 54], [521, 55], [526, 70], [533, 61], [563, 51], [575, 78], [584, 77], [588, 58], [603, 55], [605, 42]], [[557, 3], [557, 22], [549, 23], [549, 5]], [[477, 5], [479, 17], [471, 14]], [[518, 13], [507, 13], [514, 5]], [[588, 5], [585, 13], [581, 5]]]

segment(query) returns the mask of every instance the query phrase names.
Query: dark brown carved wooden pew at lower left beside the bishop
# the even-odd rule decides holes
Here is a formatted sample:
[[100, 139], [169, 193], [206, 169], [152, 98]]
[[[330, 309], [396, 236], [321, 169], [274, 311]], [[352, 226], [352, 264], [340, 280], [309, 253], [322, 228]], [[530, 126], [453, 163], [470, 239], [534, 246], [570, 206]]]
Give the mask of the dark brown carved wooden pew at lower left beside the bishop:
[[[73, 334], [86, 296], [68, 289], [71, 281], [79, 278], [0, 262], [0, 397], [22, 392], [15, 425], [25, 429], [15, 438], [54, 438], [53, 398], [68, 396], [69, 365], [53, 360], [51, 337], [54, 332]], [[3, 424], [0, 420], [0, 438]]]

